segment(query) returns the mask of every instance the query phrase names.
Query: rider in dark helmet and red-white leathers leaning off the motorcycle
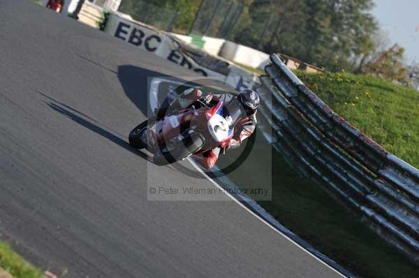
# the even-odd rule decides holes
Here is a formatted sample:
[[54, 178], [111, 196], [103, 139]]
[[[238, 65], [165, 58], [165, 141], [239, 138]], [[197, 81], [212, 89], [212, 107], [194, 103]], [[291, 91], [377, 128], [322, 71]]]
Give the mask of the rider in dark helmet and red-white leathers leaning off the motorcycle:
[[[256, 129], [256, 111], [260, 102], [260, 98], [256, 91], [251, 89], [245, 89], [240, 91], [237, 98], [234, 95], [223, 94], [214, 95], [212, 93], [203, 94], [198, 88], [189, 88], [183, 91], [176, 100], [168, 105], [166, 99], [166, 105], [163, 103], [162, 107], [157, 112], [157, 119], [163, 118], [169, 109], [186, 109], [193, 102], [201, 100], [206, 103], [217, 101], [223, 98], [226, 116], [231, 116], [231, 120], [234, 125], [233, 139], [230, 140], [228, 148], [238, 148], [244, 139], [250, 137]], [[214, 167], [218, 160], [221, 148], [217, 147], [212, 150], [207, 150], [205, 153], [199, 153], [195, 155], [198, 162], [206, 169]]]

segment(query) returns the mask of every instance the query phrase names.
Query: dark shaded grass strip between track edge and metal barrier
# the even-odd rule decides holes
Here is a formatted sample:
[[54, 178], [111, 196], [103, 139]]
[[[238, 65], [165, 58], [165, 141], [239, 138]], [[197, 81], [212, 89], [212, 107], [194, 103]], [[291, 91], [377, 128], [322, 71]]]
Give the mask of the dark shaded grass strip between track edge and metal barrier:
[[[239, 150], [228, 150], [228, 155], [221, 155], [219, 166], [232, 163], [237, 157], [236, 151]], [[298, 176], [264, 139], [256, 140], [247, 161], [228, 177], [247, 188], [265, 185], [272, 178], [272, 201], [258, 201], [260, 206], [355, 275], [417, 277], [418, 265], [376, 235], [358, 215], [332, 198], [321, 185]]]

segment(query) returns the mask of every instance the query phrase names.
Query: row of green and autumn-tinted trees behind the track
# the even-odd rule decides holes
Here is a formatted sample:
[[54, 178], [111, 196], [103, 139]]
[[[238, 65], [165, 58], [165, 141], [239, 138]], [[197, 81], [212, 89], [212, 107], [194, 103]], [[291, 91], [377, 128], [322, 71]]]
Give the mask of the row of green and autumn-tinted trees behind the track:
[[[135, 11], [138, 0], [123, 0]], [[329, 71], [348, 70], [411, 86], [412, 69], [404, 65], [404, 48], [388, 45], [372, 15], [372, 0], [148, 0], [164, 10], [179, 12], [175, 32], [189, 33], [193, 22], [222, 24], [226, 14], [212, 13], [223, 3], [241, 3], [240, 20], [226, 39], [263, 52], [293, 56]], [[136, 4], [137, 3], [137, 4]], [[128, 8], [127, 8], [128, 7]], [[199, 13], [198, 13], [199, 11]], [[163, 15], [163, 14], [162, 14]], [[198, 20], [196, 17], [199, 17]], [[163, 19], [162, 19], [163, 20]], [[207, 24], [205, 24], [207, 25]], [[208, 26], [208, 25], [207, 25]], [[198, 31], [199, 29], [193, 29]], [[205, 30], [206, 32], [208, 30]], [[219, 34], [210, 31], [211, 34]], [[225, 33], [225, 32], [224, 32]]]

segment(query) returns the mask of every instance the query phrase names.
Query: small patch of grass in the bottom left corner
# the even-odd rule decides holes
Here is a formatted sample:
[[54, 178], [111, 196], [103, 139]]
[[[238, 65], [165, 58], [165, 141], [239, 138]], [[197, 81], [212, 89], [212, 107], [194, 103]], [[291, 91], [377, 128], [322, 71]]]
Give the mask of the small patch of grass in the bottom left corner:
[[6, 270], [15, 278], [45, 278], [42, 270], [16, 254], [13, 249], [0, 241], [0, 267]]

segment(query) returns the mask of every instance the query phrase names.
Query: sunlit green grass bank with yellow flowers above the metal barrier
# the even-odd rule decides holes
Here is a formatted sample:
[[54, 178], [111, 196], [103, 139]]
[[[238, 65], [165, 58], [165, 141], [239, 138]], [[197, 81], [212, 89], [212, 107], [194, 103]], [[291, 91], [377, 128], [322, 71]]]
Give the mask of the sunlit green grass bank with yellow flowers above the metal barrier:
[[337, 114], [386, 150], [419, 167], [419, 92], [349, 73], [297, 72]]

